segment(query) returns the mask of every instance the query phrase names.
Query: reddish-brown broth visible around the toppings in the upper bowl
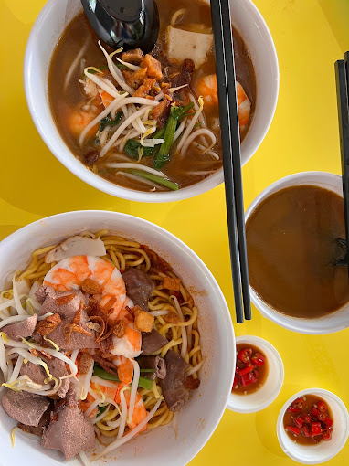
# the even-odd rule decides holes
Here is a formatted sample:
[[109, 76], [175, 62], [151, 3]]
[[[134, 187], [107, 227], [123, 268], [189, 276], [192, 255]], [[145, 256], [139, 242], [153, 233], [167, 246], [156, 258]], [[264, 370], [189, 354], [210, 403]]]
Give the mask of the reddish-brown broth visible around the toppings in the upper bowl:
[[[160, 59], [164, 66], [164, 37], [166, 27], [170, 24], [171, 18], [174, 12], [180, 8], [185, 8], [185, 16], [182, 20], [178, 21], [176, 27], [184, 28], [193, 23], [202, 23], [207, 28], [211, 25], [210, 8], [207, 5], [202, 5], [196, 1], [189, 0], [174, 0], [169, 4], [167, 0], [157, 1], [159, 15], [160, 15], [160, 34], [157, 45], [153, 50], [155, 58]], [[88, 138], [82, 147], [79, 146], [79, 133], [73, 134], [69, 128], [69, 119], [71, 118], [72, 111], [74, 109], [81, 109], [84, 104], [90, 101], [79, 83], [79, 79], [83, 79], [83, 69], [87, 66], [100, 67], [105, 65], [105, 58], [98, 46], [99, 37], [94, 33], [90, 27], [90, 23], [85, 16], [81, 13], [76, 16], [69, 26], [66, 27], [62, 37], [58, 41], [58, 45], [53, 53], [49, 75], [48, 75], [48, 97], [50, 101], [50, 107], [53, 115], [53, 119], [58, 127], [63, 140], [67, 143], [69, 149], [79, 158], [81, 162], [84, 162], [85, 154], [90, 151], [99, 150], [96, 147], [96, 138], [94, 134]], [[235, 59], [237, 77], [239, 82], [244, 87], [246, 93], [251, 101], [251, 115], [249, 118], [249, 124], [253, 115], [256, 102], [256, 79], [254, 75], [254, 69], [249, 57], [249, 52], [242, 40], [238, 35], [238, 32], [234, 30], [235, 40]], [[69, 67], [74, 59], [79, 54], [79, 51], [88, 42], [88, 48], [81, 58], [81, 65], [75, 69], [71, 78], [69, 79], [69, 86], [66, 90], [63, 89], [64, 79], [67, 75]], [[190, 58], [190, 57], [188, 57]], [[179, 71], [181, 66], [171, 65], [171, 72]], [[196, 69], [193, 79], [191, 82], [191, 91], [198, 97], [196, 92], [196, 82], [204, 75], [210, 75], [216, 73], [216, 64], [214, 58], [213, 49], [207, 55], [206, 62], [199, 68]], [[100, 110], [101, 111], [101, 110]], [[204, 114], [206, 117], [207, 128], [213, 131], [217, 137], [217, 145], [213, 148], [217, 154], [221, 154], [221, 142], [220, 142], [220, 131], [218, 127], [213, 126], [214, 122], [219, 122], [219, 111], [217, 106], [205, 107]], [[70, 120], [71, 121], [71, 120]], [[248, 131], [249, 126], [241, 134], [243, 138]], [[108, 162], [109, 155], [107, 154], [104, 158], [99, 159], [93, 166], [89, 166], [95, 173], [108, 179], [112, 183], [118, 185], [124, 185], [126, 187], [149, 191], [150, 187], [147, 185], [139, 184], [138, 182], [125, 178], [120, 175], [115, 175], [115, 169], [111, 169], [105, 166]], [[215, 172], [222, 166], [222, 160], [213, 160], [206, 154], [201, 154], [199, 149], [196, 149], [196, 144], [192, 144], [188, 149], [185, 157], [175, 156], [172, 153], [171, 160], [169, 163], [164, 165], [162, 171], [172, 181], [177, 183], [180, 187], [193, 185], [207, 175], [205, 172]], [[130, 162], [134, 160], [130, 159]], [[142, 159], [142, 164], [153, 167], [153, 157]], [[200, 171], [200, 175], [196, 175], [195, 172]]]

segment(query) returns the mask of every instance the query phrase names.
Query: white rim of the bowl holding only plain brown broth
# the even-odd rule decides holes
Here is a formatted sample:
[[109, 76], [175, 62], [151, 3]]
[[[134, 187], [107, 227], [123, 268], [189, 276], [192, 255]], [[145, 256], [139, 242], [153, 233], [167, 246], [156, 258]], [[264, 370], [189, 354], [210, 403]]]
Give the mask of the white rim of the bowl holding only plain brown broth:
[[[320, 178], [322, 176], [326, 176], [328, 178], [329, 184], [331, 183], [332, 180], [333, 180], [333, 184], [335, 184], [335, 182], [338, 182], [341, 179], [340, 175], [335, 175], [331, 172], [323, 172], [320, 170], [309, 171], [309, 172], [298, 172], [292, 175], [284, 176], [280, 178], [279, 180], [276, 180], [271, 185], [267, 186], [265, 189], [263, 189], [263, 191], [259, 193], [257, 197], [255, 197], [255, 199], [251, 202], [251, 204], [249, 205], [248, 209], [245, 212], [245, 223], [247, 222], [247, 220], [249, 219], [249, 216], [255, 210], [255, 208], [259, 205], [262, 199], [267, 198], [272, 193], [279, 191], [280, 189], [283, 188], [283, 185], [286, 185], [289, 181], [294, 181], [294, 180], [297, 180], [298, 178], [303, 178], [305, 176], [310, 178], [309, 179], [310, 185], [312, 185], [312, 183], [316, 183], [317, 178], [319, 178], [319, 182], [320, 182]], [[322, 181], [322, 184], [323, 184], [323, 181]], [[302, 185], [306, 185], [306, 183], [302, 183]], [[326, 330], [322, 328], [313, 328], [312, 332], [309, 332], [307, 330], [304, 330], [301, 323], [304, 320], [306, 320], [307, 322], [311, 322], [312, 319], [299, 319], [296, 317], [292, 318], [291, 316], [286, 316], [288, 320], [287, 320], [287, 323], [285, 323], [282, 320], [282, 318], [285, 318], [284, 314], [276, 310], [273, 310], [272, 308], [270, 308], [270, 306], [268, 306], [268, 304], [266, 304], [266, 306], [268, 306], [268, 311], [266, 309], [262, 309], [259, 306], [259, 301], [262, 301], [262, 300], [260, 300], [256, 291], [254, 291], [251, 286], [249, 286], [249, 291], [250, 291], [251, 302], [254, 304], [254, 306], [258, 309], [258, 311], [262, 315], [270, 319], [271, 322], [277, 323], [281, 327], [291, 330], [292, 332], [297, 332], [298, 334], [333, 334], [335, 332], [344, 330], [344, 328], [346, 328], [349, 325], [348, 324], [346, 325], [346, 327], [344, 327], [343, 324], [338, 323], [337, 325], [332, 325], [331, 328], [326, 329]]]

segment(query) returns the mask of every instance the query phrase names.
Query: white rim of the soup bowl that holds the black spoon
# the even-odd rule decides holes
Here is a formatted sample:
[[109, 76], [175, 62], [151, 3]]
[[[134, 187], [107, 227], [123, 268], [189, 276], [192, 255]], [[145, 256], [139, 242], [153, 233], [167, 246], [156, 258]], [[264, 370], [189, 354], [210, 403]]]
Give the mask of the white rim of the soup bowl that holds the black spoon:
[[[64, 142], [59, 134], [59, 138], [61, 139], [62, 144], [65, 146], [65, 151], [58, 150], [54, 143], [51, 143], [50, 139], [48, 138], [44, 128], [41, 124], [41, 119], [38, 116], [36, 101], [35, 101], [35, 86], [34, 83], [31, 81], [31, 67], [30, 62], [33, 56], [33, 49], [34, 44], [36, 42], [36, 35], [37, 29], [41, 26], [41, 23], [44, 22], [45, 16], [48, 15], [48, 12], [51, 7], [56, 3], [56, 0], [48, 0], [48, 2], [43, 6], [42, 10], [40, 11], [37, 19], [30, 31], [27, 44], [26, 44], [26, 54], [24, 59], [24, 84], [25, 84], [25, 93], [26, 93], [26, 102], [32, 117], [32, 120], [37, 128], [37, 132], [41, 136], [44, 143], [47, 145], [48, 150], [51, 154], [55, 155], [58, 161], [63, 164], [69, 172], [73, 175], [76, 175], [80, 180], [84, 181], [88, 185], [95, 187], [96, 189], [109, 194], [111, 196], [120, 197], [122, 199], [128, 199], [132, 201], [138, 202], [173, 202], [179, 201], [182, 199], [187, 199], [190, 197], [198, 196], [200, 194], [206, 193], [206, 191], [210, 191], [211, 189], [217, 187], [224, 182], [224, 175], [223, 175], [223, 167], [217, 171], [216, 174], [209, 176], [208, 178], [196, 183], [195, 185], [190, 185], [185, 188], [178, 189], [177, 191], [172, 192], [164, 192], [164, 193], [147, 193], [143, 191], [136, 191], [130, 188], [123, 187], [122, 185], [116, 185], [111, 183], [108, 180], [100, 177], [99, 175], [95, 175], [89, 169], [85, 167], [84, 164], [79, 162], [79, 160], [75, 157], [74, 154], [70, 151], [68, 145]], [[267, 26], [263, 16], [259, 13], [259, 10], [256, 5], [252, 2], [252, 0], [245, 0], [245, 3], [248, 5], [250, 9], [250, 14], [255, 17], [256, 21], [259, 22], [259, 28], [263, 29], [263, 33], [265, 35], [265, 40], [268, 43], [270, 49], [270, 66], [273, 69], [273, 75], [275, 79], [275, 90], [274, 95], [271, 102], [271, 111], [269, 118], [266, 118], [264, 131], [260, 133], [259, 142], [256, 143], [254, 150], [251, 151], [249, 157], [246, 158], [244, 164], [246, 164], [249, 159], [252, 157], [253, 154], [259, 148], [259, 145], [262, 143], [265, 135], [270, 129], [270, 124], [274, 117], [274, 113], [276, 110], [278, 97], [279, 97], [279, 89], [280, 89], [280, 69], [279, 69], [279, 60], [277, 51], [275, 48], [275, 44], [270, 34], [270, 29]]]

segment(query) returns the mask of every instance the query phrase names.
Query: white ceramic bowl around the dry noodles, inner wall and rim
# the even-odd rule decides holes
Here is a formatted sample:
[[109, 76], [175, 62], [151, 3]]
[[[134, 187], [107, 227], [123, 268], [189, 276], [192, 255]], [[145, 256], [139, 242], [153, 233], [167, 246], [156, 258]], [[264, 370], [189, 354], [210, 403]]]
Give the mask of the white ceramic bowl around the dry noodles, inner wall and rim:
[[[227, 303], [217, 281], [191, 249], [163, 228], [138, 217], [106, 211], [69, 212], [38, 220], [0, 243], [0, 289], [4, 289], [5, 282], [15, 270], [26, 266], [33, 250], [82, 230], [96, 231], [103, 228], [148, 245], [174, 267], [190, 288], [198, 306], [200, 345], [206, 357], [201, 385], [179, 412], [177, 438], [171, 426], [154, 429], [112, 452], [108, 456], [108, 464], [134, 466], [141, 461], [153, 466], [183, 466], [202, 449], [217, 427], [226, 408], [236, 357], [235, 337]], [[16, 434], [16, 447], [11, 448], [10, 431], [14, 424], [0, 408], [2, 466], [21, 464], [24, 458], [27, 464], [37, 466], [62, 464], [58, 452], [44, 450], [37, 442], [19, 433]], [[69, 464], [78, 465], [79, 461], [71, 461]], [[96, 466], [104, 464], [102, 460], [96, 462]]]

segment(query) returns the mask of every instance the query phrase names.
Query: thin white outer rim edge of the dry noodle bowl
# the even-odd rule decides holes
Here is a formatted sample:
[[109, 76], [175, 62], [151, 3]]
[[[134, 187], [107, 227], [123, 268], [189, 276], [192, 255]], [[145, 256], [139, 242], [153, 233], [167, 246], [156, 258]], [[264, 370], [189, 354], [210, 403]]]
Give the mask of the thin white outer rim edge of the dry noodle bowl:
[[[56, 214], [56, 215], [49, 216], [49, 217], [43, 217], [43, 218], [40, 218], [40, 219], [38, 219], [38, 220], [36, 220], [34, 222], [31, 222], [31, 223], [27, 224], [26, 226], [24, 226], [22, 228], [18, 228], [14, 233], [12, 233], [11, 235], [7, 236], [2, 241], [0, 241], [0, 255], [1, 255], [2, 250], [5, 249], [7, 247], [7, 245], [9, 245], [10, 243], [16, 242], [17, 239], [21, 237], [24, 230], [27, 230], [28, 232], [30, 232], [30, 230], [35, 231], [37, 226], [42, 224], [43, 222], [48, 222], [50, 220], [55, 220], [55, 219], [59, 220], [60, 218], [66, 218], [67, 219], [69, 217], [85, 216], [86, 214], [90, 214], [90, 216], [94, 216], [94, 217], [96, 217], [96, 216], [103, 217], [105, 215], [115, 216], [115, 217], [119, 217], [119, 218], [120, 217], [126, 217], [126, 218], [131, 217], [133, 219], [136, 219], [137, 222], [139, 222], [140, 227], [142, 227], [142, 225], [144, 225], [144, 226], [148, 226], [148, 227], [153, 228], [153, 230], [157, 231], [159, 234], [165, 235], [166, 238], [169, 238], [171, 241], [173, 241], [173, 243], [175, 244], [176, 247], [183, 249], [185, 251], [186, 255], [190, 256], [192, 259], [194, 259], [196, 261], [196, 266], [198, 267], [198, 269], [200, 269], [203, 274], [205, 273], [206, 280], [209, 281], [211, 283], [211, 285], [215, 288], [217, 298], [219, 298], [219, 301], [222, 304], [219, 307], [219, 312], [224, 312], [224, 314], [227, 317], [227, 322], [230, 323], [230, 325], [227, 325], [228, 326], [228, 328], [227, 328], [227, 334], [228, 334], [227, 335], [227, 345], [231, 344], [231, 342], [233, 342], [233, 344], [235, 344], [234, 327], [233, 327], [233, 323], [232, 323], [232, 320], [231, 320], [229, 308], [227, 306], [227, 301], [225, 299], [223, 291], [221, 291], [221, 289], [220, 289], [220, 287], [219, 287], [219, 285], [217, 283], [217, 280], [213, 276], [212, 272], [207, 268], [204, 261], [202, 259], [200, 259], [197, 256], [196, 252], [193, 249], [190, 249], [185, 244], [185, 242], [183, 242], [180, 238], [175, 237], [173, 233], [171, 233], [170, 231], [168, 231], [168, 230], [166, 230], [166, 229], [164, 229], [162, 227], [159, 227], [158, 225], [154, 224], [153, 222], [145, 220], [145, 219], [143, 219], [141, 217], [136, 217], [136, 216], [132, 216], [132, 215], [129, 215], [129, 214], [123, 214], [121, 212], [114, 212], [114, 211], [111, 211], [111, 210], [76, 210], [76, 211], [69, 211], [69, 212]], [[234, 377], [234, 371], [235, 371], [235, 358], [233, 357], [233, 355], [235, 355], [235, 352], [229, 352], [229, 351], [227, 352], [227, 361], [226, 362], [227, 362], [227, 365], [232, 368], [231, 369], [230, 380], [227, 381], [227, 397], [228, 397], [228, 394], [230, 392], [230, 387], [232, 386], [232, 383], [233, 383], [233, 377]], [[227, 399], [227, 397], [226, 397], [226, 399]], [[185, 461], [187, 461], [187, 462], [191, 461], [197, 455], [197, 453], [204, 448], [204, 446], [206, 445], [206, 442], [211, 438], [212, 434], [217, 429], [217, 425], [219, 424], [219, 421], [222, 418], [226, 407], [227, 407], [227, 402], [222, 403], [222, 406], [219, 409], [219, 412], [217, 412], [216, 420], [211, 423], [210, 428], [207, 428], [207, 427], [205, 428], [207, 430], [205, 437], [200, 441], [200, 444], [197, 446], [196, 451], [193, 452], [190, 455], [187, 455], [187, 457], [185, 458]]]

